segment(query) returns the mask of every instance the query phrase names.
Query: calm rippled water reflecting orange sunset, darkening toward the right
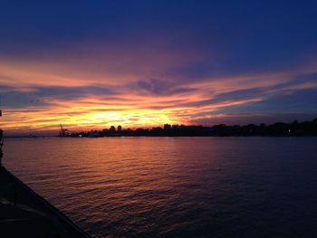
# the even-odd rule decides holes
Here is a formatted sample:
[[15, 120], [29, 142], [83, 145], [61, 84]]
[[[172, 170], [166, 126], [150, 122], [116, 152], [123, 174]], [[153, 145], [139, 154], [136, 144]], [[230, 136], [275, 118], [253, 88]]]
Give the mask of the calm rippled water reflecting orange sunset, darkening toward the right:
[[93, 237], [317, 237], [317, 138], [18, 138], [5, 166]]

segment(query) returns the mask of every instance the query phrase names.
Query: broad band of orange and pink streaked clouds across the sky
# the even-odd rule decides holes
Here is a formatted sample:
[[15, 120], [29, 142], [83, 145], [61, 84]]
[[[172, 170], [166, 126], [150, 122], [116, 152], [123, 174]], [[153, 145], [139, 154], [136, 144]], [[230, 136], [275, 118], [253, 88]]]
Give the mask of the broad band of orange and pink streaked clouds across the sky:
[[[0, 59], [2, 93], [16, 100], [12, 105], [3, 101], [1, 127], [33, 131], [58, 129], [59, 123], [70, 129], [191, 123], [210, 119], [218, 109], [317, 88], [316, 81], [296, 79], [314, 68], [183, 81], [164, 72], [205, 56], [143, 51], [150, 53], [117, 51], [115, 57], [115, 52], [103, 51], [97, 57], [90, 52], [85, 60], [72, 56], [61, 61], [53, 55], [45, 62]], [[103, 53], [108, 56], [101, 57]]]

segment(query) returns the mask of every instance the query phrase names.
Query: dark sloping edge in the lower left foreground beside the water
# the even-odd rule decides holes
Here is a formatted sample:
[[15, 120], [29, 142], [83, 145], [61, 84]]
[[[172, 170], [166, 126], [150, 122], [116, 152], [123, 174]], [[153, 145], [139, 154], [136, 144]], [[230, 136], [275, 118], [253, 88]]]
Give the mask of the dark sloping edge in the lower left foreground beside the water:
[[90, 237], [0, 166], [0, 237]]

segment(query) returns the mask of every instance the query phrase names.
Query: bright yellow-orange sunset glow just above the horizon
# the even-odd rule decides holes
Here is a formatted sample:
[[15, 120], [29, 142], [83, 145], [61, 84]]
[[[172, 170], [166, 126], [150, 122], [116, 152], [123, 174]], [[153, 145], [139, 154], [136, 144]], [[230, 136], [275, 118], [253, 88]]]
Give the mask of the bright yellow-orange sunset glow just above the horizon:
[[[101, 108], [82, 107], [82, 109], [8, 109], [5, 110], [3, 129], [10, 131], [56, 130], [59, 124], [72, 130], [105, 129], [110, 126], [122, 126], [136, 129], [162, 126], [165, 123], [178, 124], [180, 120], [173, 110], [122, 109], [107, 111]], [[19, 118], [20, 120], [16, 120]]]

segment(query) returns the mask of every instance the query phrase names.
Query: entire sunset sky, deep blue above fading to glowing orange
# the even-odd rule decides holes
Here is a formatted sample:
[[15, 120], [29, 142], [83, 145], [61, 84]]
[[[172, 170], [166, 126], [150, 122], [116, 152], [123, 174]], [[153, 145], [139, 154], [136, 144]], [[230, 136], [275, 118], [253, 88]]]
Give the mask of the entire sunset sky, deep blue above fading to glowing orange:
[[309, 0], [1, 0], [0, 126], [316, 118], [316, 10]]

